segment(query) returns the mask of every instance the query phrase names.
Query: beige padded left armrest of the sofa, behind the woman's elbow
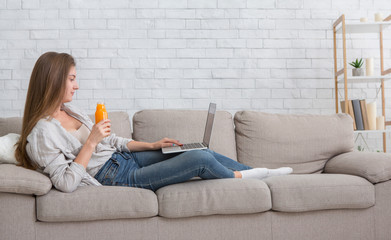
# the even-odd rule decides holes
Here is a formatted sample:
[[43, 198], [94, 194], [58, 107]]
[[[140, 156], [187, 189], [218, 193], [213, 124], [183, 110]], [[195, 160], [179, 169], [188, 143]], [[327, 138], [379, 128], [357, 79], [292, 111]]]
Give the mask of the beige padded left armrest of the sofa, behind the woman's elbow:
[[15, 164], [0, 164], [0, 192], [43, 195], [52, 188], [50, 179]]

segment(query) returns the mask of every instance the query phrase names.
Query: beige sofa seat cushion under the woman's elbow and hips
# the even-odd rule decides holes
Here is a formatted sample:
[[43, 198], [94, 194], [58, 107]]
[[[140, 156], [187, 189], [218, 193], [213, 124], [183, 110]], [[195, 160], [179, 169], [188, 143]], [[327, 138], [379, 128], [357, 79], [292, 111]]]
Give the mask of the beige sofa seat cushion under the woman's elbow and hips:
[[85, 186], [72, 193], [53, 189], [37, 197], [37, 218], [44, 222], [146, 218], [157, 213], [155, 193], [141, 188]]

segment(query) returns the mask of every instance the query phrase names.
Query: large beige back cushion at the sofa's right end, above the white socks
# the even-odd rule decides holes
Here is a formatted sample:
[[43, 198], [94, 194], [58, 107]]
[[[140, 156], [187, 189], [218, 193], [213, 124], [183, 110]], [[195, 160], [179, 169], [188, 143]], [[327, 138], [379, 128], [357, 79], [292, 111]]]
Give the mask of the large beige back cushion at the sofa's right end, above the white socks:
[[321, 172], [328, 159], [353, 150], [347, 114], [235, 114], [238, 161], [252, 167], [288, 166], [294, 173]]

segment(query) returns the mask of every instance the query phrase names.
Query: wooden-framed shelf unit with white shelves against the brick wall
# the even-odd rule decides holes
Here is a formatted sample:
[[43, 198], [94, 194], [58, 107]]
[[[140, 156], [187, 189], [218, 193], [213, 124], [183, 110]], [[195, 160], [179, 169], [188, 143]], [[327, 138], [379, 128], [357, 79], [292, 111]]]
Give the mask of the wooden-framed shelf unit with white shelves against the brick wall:
[[[364, 23], [346, 23], [345, 15], [342, 14], [333, 24], [333, 36], [334, 36], [334, 83], [335, 83], [335, 111], [338, 113], [338, 84], [344, 86], [344, 97], [345, 97], [345, 109], [348, 109], [348, 84], [349, 83], [369, 83], [369, 82], [380, 82], [381, 96], [382, 96], [382, 115], [385, 118], [385, 91], [384, 82], [391, 79], [388, 74], [391, 73], [391, 68], [384, 70], [384, 55], [383, 55], [383, 30], [391, 26], [391, 15], [386, 17], [382, 22], [364, 22]], [[346, 56], [346, 34], [357, 34], [357, 33], [379, 33], [380, 43], [380, 75], [378, 76], [361, 76], [351, 77], [347, 74], [347, 56]], [[337, 64], [337, 34], [342, 34], [342, 50], [343, 50], [343, 68], [338, 69]], [[339, 80], [338, 78], [341, 77]], [[385, 125], [391, 125], [391, 121], [386, 121]], [[360, 133], [370, 133], [379, 131], [355, 131]], [[383, 132], [383, 151], [386, 152], [386, 132]]]

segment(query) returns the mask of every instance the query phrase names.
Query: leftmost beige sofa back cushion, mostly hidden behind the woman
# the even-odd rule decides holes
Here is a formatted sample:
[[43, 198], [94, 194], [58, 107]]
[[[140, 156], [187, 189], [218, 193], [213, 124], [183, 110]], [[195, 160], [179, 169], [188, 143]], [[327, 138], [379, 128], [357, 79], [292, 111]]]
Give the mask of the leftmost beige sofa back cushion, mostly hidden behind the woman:
[[[130, 126], [129, 115], [126, 112], [109, 112], [109, 118], [111, 120], [111, 130], [117, 136], [132, 138], [132, 129]], [[89, 115], [94, 120], [93, 115]], [[22, 118], [0, 118], [0, 137], [7, 135], [8, 133], [18, 133], [22, 131]]]

